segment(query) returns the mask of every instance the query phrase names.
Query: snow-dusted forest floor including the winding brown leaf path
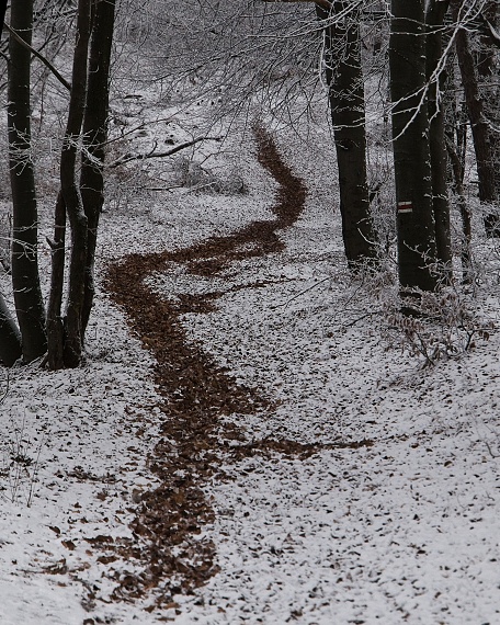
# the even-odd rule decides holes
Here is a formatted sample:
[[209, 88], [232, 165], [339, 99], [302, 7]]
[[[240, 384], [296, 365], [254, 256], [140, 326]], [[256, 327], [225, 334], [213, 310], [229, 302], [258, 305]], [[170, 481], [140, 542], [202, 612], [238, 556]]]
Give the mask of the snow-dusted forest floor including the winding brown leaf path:
[[103, 215], [84, 366], [2, 372], [0, 622], [500, 622], [498, 294], [424, 367], [344, 268], [327, 137], [247, 140], [247, 193]]

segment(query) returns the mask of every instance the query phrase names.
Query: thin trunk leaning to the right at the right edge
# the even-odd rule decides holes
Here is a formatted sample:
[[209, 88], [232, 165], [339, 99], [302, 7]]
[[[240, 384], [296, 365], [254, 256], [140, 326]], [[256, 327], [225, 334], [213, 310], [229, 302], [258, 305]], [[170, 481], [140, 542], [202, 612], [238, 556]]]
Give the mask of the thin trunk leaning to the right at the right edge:
[[[452, 16], [459, 20], [459, 0], [452, 1]], [[485, 116], [484, 102], [479, 93], [479, 86], [475, 69], [474, 55], [470, 50], [468, 35], [459, 29], [455, 35], [456, 54], [461, 68], [462, 83], [473, 130], [474, 150], [476, 152], [477, 175], [479, 180], [479, 200], [487, 205], [495, 205], [497, 191], [495, 184], [495, 162], [491, 150], [491, 137], [488, 122]], [[489, 237], [500, 236], [497, 225], [498, 217], [493, 214], [485, 217], [486, 234]]]

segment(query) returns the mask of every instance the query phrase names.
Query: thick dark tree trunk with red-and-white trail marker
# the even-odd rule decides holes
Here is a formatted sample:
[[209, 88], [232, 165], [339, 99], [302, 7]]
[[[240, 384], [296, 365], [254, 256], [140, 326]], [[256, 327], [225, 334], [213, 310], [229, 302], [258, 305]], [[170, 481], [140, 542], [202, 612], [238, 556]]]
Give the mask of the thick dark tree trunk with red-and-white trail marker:
[[391, 11], [389, 68], [399, 281], [404, 289], [433, 291], [436, 246], [424, 98], [423, 0], [393, 0]]

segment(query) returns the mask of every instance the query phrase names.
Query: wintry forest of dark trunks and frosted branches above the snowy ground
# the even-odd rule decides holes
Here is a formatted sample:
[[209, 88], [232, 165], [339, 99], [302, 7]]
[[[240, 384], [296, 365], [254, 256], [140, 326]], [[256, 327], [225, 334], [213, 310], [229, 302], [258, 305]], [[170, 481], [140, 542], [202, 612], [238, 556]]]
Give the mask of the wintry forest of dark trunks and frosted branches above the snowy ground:
[[[2, 44], [2, 265], [12, 299], [0, 300], [0, 359], [80, 364], [99, 217], [121, 172], [134, 178], [220, 124], [220, 139], [242, 120], [298, 132], [300, 120], [315, 123], [311, 103], [321, 99], [337, 157], [330, 202], [349, 268], [359, 275], [396, 268], [401, 329], [413, 332], [416, 317], [439, 320], [439, 302], [462, 300], [458, 291], [478, 281], [474, 235], [500, 232], [498, 13], [495, 0], [13, 0]], [[134, 99], [134, 83], [179, 110], [209, 100], [212, 114], [186, 141], [159, 134], [149, 151], [129, 151], [141, 128], [129, 128], [113, 101]], [[54, 205], [45, 241], [39, 202]], [[38, 253], [47, 245], [43, 293]], [[461, 306], [454, 314], [467, 325]]]

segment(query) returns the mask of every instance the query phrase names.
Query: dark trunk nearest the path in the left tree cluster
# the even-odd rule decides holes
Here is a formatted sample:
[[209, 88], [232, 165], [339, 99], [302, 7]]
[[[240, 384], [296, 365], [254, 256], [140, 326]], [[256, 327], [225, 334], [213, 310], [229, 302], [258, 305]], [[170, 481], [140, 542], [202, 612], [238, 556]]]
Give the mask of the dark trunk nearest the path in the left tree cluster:
[[82, 156], [80, 190], [88, 219], [86, 293], [81, 336], [84, 337], [92, 308], [94, 257], [99, 217], [104, 201], [104, 147], [107, 138], [110, 61], [113, 42], [115, 0], [96, 0], [89, 58], [89, 84], [83, 120], [86, 150]]

